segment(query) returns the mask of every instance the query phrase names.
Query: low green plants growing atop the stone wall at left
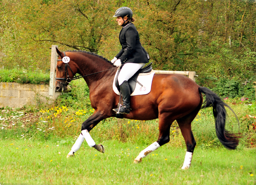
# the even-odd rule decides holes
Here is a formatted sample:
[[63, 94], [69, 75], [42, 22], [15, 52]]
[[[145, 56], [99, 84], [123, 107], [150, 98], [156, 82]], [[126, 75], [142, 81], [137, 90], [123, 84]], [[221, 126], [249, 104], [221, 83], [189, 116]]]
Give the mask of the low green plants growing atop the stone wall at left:
[[0, 70], [0, 82], [16, 82], [21, 84], [49, 84], [49, 74], [43, 73], [38, 68], [29, 70], [12, 69]]

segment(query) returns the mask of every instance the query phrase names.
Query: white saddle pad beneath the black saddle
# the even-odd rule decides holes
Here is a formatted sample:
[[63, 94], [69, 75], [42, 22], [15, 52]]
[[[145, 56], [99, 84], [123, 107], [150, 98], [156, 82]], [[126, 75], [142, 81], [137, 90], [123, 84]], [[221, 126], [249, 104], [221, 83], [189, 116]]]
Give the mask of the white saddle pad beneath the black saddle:
[[[154, 74], [154, 72], [139, 74], [137, 81], [140, 82], [140, 84], [142, 84], [143, 86], [140, 86], [140, 84], [136, 83], [135, 90], [131, 94], [131, 96], [144, 95], [150, 93]], [[120, 92], [117, 90], [115, 86], [116, 75], [113, 82], [113, 90], [116, 94], [120, 95]]]

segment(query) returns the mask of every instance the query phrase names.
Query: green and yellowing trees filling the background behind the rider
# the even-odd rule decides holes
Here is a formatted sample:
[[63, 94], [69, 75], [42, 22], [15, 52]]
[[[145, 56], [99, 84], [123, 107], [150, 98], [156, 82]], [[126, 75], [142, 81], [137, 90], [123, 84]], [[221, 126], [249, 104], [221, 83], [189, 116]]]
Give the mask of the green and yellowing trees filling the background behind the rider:
[[18, 64], [48, 69], [52, 44], [61, 50], [88, 50], [112, 59], [121, 48], [121, 27], [112, 15], [120, 6], [129, 6], [155, 69], [196, 71], [198, 84], [210, 88], [209, 76], [243, 80], [256, 72], [256, 4], [248, 1], [1, 3], [0, 62], [6, 68]]

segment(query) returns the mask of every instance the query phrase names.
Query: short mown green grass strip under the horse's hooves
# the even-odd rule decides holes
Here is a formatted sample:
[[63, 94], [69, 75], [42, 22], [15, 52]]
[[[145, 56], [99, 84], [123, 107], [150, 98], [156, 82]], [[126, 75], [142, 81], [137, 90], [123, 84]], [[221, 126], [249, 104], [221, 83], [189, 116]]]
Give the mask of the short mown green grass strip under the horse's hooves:
[[192, 166], [188, 170], [181, 170], [186, 153], [184, 147], [164, 145], [136, 165], [133, 160], [146, 145], [104, 141], [102, 144], [106, 153], [103, 154], [84, 142], [76, 152], [76, 157], [67, 159], [66, 155], [72, 144], [61, 144], [61, 140], [56, 138], [48, 141], [0, 140], [0, 184], [254, 185], [256, 183], [256, 148], [229, 151], [223, 148], [196, 147]]

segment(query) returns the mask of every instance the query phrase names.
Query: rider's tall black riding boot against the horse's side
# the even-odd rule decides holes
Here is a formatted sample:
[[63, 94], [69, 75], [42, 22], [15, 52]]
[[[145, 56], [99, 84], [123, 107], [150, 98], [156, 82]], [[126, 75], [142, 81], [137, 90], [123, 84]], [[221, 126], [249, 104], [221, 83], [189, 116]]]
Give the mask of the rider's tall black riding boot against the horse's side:
[[[119, 113], [121, 114], [129, 114], [130, 113], [130, 99], [131, 99], [131, 91], [130, 86], [127, 81], [124, 81], [120, 85], [120, 91], [123, 97], [123, 105], [120, 107]], [[114, 111], [118, 112], [119, 107], [113, 109]]]

